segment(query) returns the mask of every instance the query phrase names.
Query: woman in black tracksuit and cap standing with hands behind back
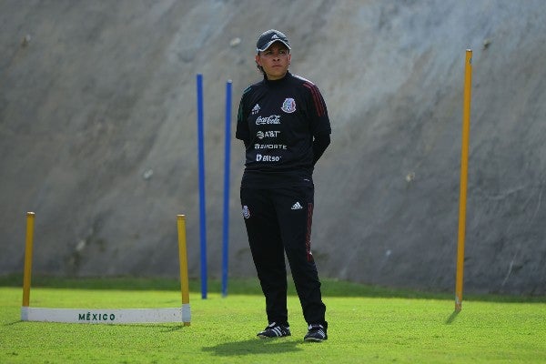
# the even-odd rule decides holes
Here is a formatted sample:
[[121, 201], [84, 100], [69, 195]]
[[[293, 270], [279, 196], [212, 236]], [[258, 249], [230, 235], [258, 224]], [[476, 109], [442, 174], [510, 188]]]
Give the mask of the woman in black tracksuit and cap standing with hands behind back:
[[258, 37], [262, 81], [248, 86], [238, 109], [236, 137], [246, 147], [241, 181], [248, 243], [266, 298], [268, 326], [259, 338], [290, 336], [288, 264], [298, 292], [306, 341], [328, 339], [326, 306], [311, 254], [313, 168], [329, 146], [330, 124], [319, 88], [288, 72], [288, 38], [278, 30]]

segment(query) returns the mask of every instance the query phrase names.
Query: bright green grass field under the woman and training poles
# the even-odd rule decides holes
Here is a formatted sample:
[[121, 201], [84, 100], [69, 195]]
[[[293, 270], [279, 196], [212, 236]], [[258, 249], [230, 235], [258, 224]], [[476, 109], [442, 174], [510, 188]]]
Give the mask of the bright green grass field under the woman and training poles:
[[[450, 295], [325, 280], [329, 340], [305, 343], [290, 288], [292, 336], [257, 339], [267, 325], [253, 279], [218, 283], [201, 299], [190, 283], [191, 326], [22, 322], [19, 278], [0, 278], [0, 363], [546, 363], [546, 298], [469, 297], [459, 314]], [[167, 308], [175, 280], [33, 278], [31, 306]]]

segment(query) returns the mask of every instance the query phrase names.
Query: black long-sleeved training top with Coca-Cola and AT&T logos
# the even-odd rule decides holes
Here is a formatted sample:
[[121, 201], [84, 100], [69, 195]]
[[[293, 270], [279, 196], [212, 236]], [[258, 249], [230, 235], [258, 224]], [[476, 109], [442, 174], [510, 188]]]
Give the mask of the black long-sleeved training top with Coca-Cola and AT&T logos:
[[319, 88], [287, 73], [248, 86], [238, 108], [236, 137], [245, 143], [241, 187], [308, 184], [329, 145], [331, 126]]

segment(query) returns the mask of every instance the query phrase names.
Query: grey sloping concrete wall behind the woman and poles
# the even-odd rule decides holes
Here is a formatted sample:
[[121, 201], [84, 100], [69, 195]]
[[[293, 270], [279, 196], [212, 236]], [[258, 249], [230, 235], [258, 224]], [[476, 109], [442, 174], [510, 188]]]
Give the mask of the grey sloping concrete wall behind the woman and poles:
[[[546, 289], [546, 3], [0, 3], [0, 274], [177, 276], [176, 215], [199, 275], [196, 74], [204, 76], [208, 271], [219, 277], [225, 83], [259, 79], [256, 38], [329, 106], [315, 173], [323, 277], [454, 287], [465, 49], [473, 50], [465, 288]], [[234, 128], [232, 128], [234, 130]], [[232, 138], [230, 275], [254, 276]]]

